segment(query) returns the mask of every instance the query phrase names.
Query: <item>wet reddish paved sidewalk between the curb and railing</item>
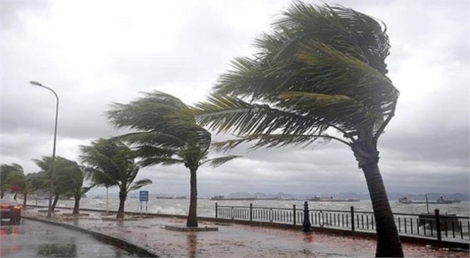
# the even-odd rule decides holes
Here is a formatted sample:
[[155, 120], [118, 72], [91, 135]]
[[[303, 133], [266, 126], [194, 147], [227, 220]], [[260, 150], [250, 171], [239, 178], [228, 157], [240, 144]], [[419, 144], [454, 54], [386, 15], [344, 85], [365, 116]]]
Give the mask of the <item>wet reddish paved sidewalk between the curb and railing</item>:
[[[53, 221], [75, 225], [105, 235], [122, 238], [160, 257], [373, 257], [375, 240], [327, 233], [255, 227], [231, 223], [199, 221], [200, 227], [218, 227], [213, 232], [178, 232], [165, 225], [185, 225], [181, 218], [138, 218], [103, 220], [100, 212], [71, 218], [61, 215]], [[23, 211], [25, 216], [45, 219], [38, 209]], [[112, 218], [115, 218], [113, 216]], [[469, 252], [435, 250], [424, 245], [403, 244], [406, 257], [469, 257]]]

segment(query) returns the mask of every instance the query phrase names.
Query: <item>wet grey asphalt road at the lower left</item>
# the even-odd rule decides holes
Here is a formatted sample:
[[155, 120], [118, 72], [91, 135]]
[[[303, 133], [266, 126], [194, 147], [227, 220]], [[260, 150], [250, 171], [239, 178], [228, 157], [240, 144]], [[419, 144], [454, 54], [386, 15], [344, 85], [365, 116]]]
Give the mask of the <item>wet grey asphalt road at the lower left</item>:
[[22, 219], [1, 221], [0, 257], [137, 257], [75, 230]]

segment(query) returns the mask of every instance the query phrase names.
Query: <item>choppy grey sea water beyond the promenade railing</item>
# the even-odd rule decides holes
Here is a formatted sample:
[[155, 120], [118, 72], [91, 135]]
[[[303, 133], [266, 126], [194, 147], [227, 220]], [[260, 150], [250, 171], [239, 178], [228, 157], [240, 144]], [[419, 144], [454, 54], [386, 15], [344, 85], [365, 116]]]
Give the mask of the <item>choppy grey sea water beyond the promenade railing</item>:
[[[35, 204], [35, 200], [30, 200], [28, 204]], [[81, 199], [81, 208], [88, 209], [105, 209], [105, 199]], [[197, 200], [197, 215], [204, 217], [215, 216], [215, 203], [208, 199]], [[273, 207], [273, 208], [292, 208], [292, 204], [297, 206], [297, 209], [302, 209], [304, 206], [303, 201], [217, 201], [219, 205], [224, 206], [249, 206], [250, 203], [256, 207]], [[46, 200], [38, 200], [39, 205], [47, 206]], [[398, 201], [390, 201], [391, 209], [394, 213], [425, 213], [426, 204], [400, 204]], [[116, 211], [119, 206], [118, 199], [109, 200], [109, 210]], [[73, 207], [74, 200], [60, 200], [57, 206]], [[350, 206], [355, 207], [355, 211], [372, 211], [372, 204], [370, 201], [357, 201], [357, 202], [314, 202], [309, 201], [310, 209], [325, 209], [325, 210], [342, 210], [349, 211]], [[142, 211], [145, 211], [145, 203], [142, 205]], [[186, 215], [189, 209], [189, 199], [149, 199], [147, 203], [149, 213], [165, 213], [175, 215]], [[434, 212], [435, 209], [440, 209], [441, 214], [452, 213], [457, 216], [470, 216], [470, 203], [469, 201], [462, 201], [459, 204], [429, 204], [429, 211]], [[125, 204], [125, 211], [140, 211], [139, 199], [127, 199]]]

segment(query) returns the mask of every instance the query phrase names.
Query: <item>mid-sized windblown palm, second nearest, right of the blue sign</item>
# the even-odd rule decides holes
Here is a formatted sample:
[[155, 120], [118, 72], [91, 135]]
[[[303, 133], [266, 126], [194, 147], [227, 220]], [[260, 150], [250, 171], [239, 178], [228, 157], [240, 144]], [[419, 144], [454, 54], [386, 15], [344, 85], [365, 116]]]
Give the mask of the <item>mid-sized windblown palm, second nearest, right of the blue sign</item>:
[[117, 128], [137, 132], [120, 136], [134, 144], [142, 166], [184, 164], [190, 171], [190, 205], [186, 226], [197, 227], [197, 169], [213, 167], [238, 156], [207, 158], [211, 134], [195, 123], [193, 114], [178, 98], [155, 91], [130, 104], [113, 104], [108, 119]]

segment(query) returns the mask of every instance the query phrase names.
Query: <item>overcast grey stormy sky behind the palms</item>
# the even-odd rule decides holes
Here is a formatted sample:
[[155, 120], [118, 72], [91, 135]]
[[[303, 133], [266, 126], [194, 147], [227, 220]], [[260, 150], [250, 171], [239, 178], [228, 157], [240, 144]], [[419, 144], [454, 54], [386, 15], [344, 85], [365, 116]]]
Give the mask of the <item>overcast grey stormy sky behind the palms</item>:
[[[469, 191], [469, 1], [326, 1], [386, 23], [389, 78], [401, 92], [379, 141], [379, 166], [393, 192]], [[321, 4], [321, 1], [314, 1]], [[187, 104], [205, 100], [234, 57], [290, 1], [1, 1], [1, 163], [37, 172], [50, 156], [59, 95], [57, 155], [122, 133], [103, 113], [111, 102], [161, 90]], [[214, 136], [222, 139], [224, 136]], [[201, 195], [367, 192], [350, 149], [336, 142], [243, 155], [198, 171]], [[213, 153], [214, 156], [219, 154]], [[183, 165], [139, 177], [154, 193], [189, 193]], [[93, 193], [101, 193], [95, 189]]]

